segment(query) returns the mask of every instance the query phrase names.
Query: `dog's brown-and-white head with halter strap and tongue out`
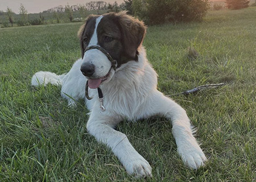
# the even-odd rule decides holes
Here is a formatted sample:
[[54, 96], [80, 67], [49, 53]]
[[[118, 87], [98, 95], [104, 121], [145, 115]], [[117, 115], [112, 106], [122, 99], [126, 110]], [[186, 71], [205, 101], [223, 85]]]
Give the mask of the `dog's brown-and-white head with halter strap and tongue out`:
[[138, 61], [138, 47], [142, 44], [146, 28], [143, 22], [126, 14], [109, 13], [91, 15], [79, 30], [82, 52], [81, 72], [88, 78], [90, 88], [97, 88], [101, 82], [109, 81], [114, 75], [108, 57], [98, 49], [104, 48], [114, 60], [117, 68], [128, 61]]

